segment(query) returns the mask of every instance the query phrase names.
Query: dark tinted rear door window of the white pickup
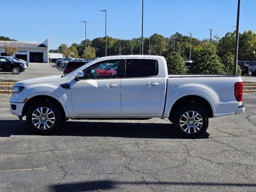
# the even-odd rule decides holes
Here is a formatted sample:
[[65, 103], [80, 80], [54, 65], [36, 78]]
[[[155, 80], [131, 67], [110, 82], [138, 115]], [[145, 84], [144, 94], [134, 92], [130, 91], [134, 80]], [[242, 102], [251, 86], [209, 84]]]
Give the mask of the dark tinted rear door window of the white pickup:
[[158, 62], [152, 59], [127, 59], [126, 78], [152, 77], [158, 75]]

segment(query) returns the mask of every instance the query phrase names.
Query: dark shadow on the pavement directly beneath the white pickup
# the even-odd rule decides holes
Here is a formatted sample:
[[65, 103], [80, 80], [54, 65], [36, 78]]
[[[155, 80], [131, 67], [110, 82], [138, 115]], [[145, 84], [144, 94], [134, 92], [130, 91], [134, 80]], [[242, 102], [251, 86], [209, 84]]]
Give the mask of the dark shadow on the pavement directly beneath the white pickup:
[[[11, 135], [36, 135], [27, 127], [26, 121], [0, 120], [0, 137]], [[53, 136], [96, 136], [122, 138], [180, 138], [170, 123], [67, 121]], [[209, 138], [206, 132], [200, 139]]]

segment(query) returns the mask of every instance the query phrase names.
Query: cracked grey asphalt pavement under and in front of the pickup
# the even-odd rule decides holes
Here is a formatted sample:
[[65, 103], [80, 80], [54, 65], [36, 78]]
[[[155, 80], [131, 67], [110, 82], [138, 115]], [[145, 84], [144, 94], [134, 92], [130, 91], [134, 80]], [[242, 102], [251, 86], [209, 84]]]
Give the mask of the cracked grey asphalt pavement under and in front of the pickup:
[[199, 139], [168, 119], [68, 120], [38, 136], [0, 95], [0, 191], [256, 191], [256, 94]]

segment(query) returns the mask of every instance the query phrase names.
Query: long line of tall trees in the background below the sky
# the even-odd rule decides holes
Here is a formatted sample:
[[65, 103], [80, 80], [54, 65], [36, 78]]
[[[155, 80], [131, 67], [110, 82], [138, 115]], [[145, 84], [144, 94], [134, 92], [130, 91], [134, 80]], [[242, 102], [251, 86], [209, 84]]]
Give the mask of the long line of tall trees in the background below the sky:
[[[228, 53], [234, 54], [236, 32], [227, 32], [220, 38], [214, 35], [212, 38], [211, 50], [222, 57]], [[191, 41], [191, 60], [194, 60], [195, 52], [203, 49], [210, 49], [210, 39], [198, 40], [192, 37]], [[162, 50], [161, 50], [162, 45]], [[107, 36], [107, 55], [119, 54], [140, 54], [141, 38], [132, 38], [124, 40]], [[68, 47], [61, 44], [59, 50], [50, 50], [50, 52], [62, 52], [65, 56], [85, 58], [85, 40], [80, 44], [73, 43]], [[239, 33], [238, 60], [256, 60], [256, 34], [252, 30]], [[184, 36], [178, 32], [169, 37], [160, 34], [153, 34], [144, 38], [144, 53], [151, 55], [167, 56], [170, 52], [178, 52], [184, 60], [189, 59], [190, 37]], [[98, 37], [93, 40], [87, 40], [87, 58], [105, 56], [105, 37]]]

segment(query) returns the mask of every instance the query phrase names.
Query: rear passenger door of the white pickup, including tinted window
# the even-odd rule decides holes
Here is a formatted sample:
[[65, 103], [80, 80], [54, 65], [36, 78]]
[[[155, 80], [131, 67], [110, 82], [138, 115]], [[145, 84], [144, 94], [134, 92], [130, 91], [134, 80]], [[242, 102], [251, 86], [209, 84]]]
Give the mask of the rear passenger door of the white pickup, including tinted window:
[[127, 59], [122, 66], [121, 104], [124, 115], [155, 115], [162, 98], [162, 68], [154, 59]]

